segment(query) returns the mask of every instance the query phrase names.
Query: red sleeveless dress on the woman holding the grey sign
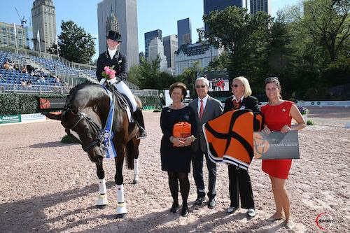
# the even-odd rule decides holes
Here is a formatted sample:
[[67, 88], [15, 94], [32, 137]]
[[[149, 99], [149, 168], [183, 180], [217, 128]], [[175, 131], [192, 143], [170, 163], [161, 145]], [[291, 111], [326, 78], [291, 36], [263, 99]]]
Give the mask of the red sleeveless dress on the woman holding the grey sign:
[[[261, 107], [261, 113], [265, 119], [265, 125], [271, 131], [281, 131], [283, 125], [288, 125], [292, 122], [289, 116], [289, 111], [294, 103], [292, 101], [283, 101], [278, 106], [270, 106], [266, 104]], [[265, 171], [270, 176], [288, 179], [288, 173], [292, 160], [262, 160], [262, 171]]]

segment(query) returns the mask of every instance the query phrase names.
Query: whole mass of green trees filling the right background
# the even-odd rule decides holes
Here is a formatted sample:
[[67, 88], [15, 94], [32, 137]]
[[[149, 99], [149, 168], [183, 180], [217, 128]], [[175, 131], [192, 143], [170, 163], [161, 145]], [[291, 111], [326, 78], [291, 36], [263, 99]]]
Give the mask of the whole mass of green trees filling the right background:
[[208, 70], [245, 76], [261, 99], [267, 76], [278, 76], [288, 87], [286, 98], [336, 98], [328, 88], [350, 83], [349, 4], [304, 0], [274, 19], [236, 7], [204, 15], [209, 30], [198, 30], [200, 39], [226, 51]]

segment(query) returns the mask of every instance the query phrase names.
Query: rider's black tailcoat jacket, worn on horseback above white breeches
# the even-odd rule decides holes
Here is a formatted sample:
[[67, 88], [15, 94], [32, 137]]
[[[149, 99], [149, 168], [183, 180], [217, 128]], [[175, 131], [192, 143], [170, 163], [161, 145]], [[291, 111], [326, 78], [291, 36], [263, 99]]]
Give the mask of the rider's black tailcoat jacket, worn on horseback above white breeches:
[[109, 57], [109, 52], [103, 52], [99, 55], [99, 59], [97, 59], [97, 69], [96, 76], [100, 81], [104, 76], [102, 76], [102, 72], [104, 71], [104, 66], [114, 66], [114, 70], [116, 71], [116, 78], [120, 80], [127, 80], [127, 57], [120, 53], [116, 52], [113, 59]]

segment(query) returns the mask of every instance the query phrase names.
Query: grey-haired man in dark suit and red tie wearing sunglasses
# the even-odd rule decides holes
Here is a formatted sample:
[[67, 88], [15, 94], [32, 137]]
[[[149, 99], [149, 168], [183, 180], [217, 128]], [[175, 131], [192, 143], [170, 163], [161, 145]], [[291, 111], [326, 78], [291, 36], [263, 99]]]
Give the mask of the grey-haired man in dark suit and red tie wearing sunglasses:
[[196, 114], [197, 132], [196, 140], [192, 143], [192, 163], [193, 163], [193, 178], [197, 186], [196, 205], [201, 205], [205, 199], [205, 188], [203, 181], [203, 155], [207, 161], [209, 171], [209, 208], [214, 208], [216, 205], [216, 164], [211, 162], [207, 153], [207, 143], [204, 139], [202, 125], [213, 118], [218, 117], [223, 113], [221, 102], [208, 95], [209, 81], [207, 78], [197, 78], [195, 80], [195, 90], [198, 97], [190, 102], [189, 106], [193, 108]]

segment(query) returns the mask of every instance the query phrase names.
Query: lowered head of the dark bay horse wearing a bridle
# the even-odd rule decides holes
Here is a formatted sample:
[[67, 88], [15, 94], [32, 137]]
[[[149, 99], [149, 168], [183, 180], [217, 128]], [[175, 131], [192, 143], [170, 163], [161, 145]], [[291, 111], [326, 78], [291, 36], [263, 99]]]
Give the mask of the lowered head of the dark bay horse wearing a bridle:
[[[97, 104], [92, 102], [91, 92], [70, 94], [60, 115], [44, 113], [48, 118], [60, 120], [66, 133], [76, 139], [92, 162], [100, 162], [104, 157], [102, 120], [97, 113]], [[75, 132], [76, 134], [72, 133]]]

